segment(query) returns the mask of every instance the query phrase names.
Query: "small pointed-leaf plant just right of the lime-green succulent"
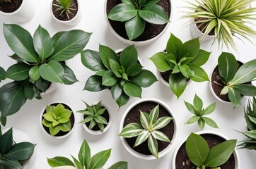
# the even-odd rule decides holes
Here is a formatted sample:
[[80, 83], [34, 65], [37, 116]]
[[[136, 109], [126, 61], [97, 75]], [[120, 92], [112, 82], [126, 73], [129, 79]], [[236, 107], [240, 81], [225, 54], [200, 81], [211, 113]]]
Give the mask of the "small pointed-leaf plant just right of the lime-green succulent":
[[[86, 104], [86, 102], [84, 102]], [[107, 125], [107, 120], [102, 116], [104, 113], [107, 113], [106, 108], [101, 106], [101, 101], [98, 104], [90, 106], [86, 104], [86, 109], [78, 111], [86, 115], [86, 118], [81, 120], [80, 123], [90, 123], [89, 129], [92, 130], [95, 125], [100, 128], [100, 131], [103, 132], [105, 126]]]

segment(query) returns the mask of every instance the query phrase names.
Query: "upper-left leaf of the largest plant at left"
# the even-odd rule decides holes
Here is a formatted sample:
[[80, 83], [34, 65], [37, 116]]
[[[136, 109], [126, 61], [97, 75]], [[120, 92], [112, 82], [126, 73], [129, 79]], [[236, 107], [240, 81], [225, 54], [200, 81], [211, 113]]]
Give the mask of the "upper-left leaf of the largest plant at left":
[[15, 24], [4, 24], [4, 37], [8, 46], [20, 58], [31, 63], [38, 62], [33, 46], [33, 38], [23, 27]]

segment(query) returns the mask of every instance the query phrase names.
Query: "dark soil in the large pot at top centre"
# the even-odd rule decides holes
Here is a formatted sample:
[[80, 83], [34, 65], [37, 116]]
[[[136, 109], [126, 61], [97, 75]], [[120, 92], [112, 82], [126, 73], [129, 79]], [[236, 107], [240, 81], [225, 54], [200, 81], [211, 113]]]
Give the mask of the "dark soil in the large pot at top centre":
[[[117, 6], [117, 4], [121, 4], [121, 0], [107, 1], [107, 14], [110, 12], [110, 10], [114, 6]], [[162, 6], [162, 8], [170, 17], [170, 6], [171, 6], [170, 1], [161, 0], [158, 2], [158, 5]], [[115, 30], [115, 32], [117, 32], [118, 35], [120, 35], [124, 39], [129, 39], [125, 31], [125, 26], [124, 26], [125, 22], [119, 22], [119, 21], [110, 20], [110, 19], [109, 19], [109, 22], [112, 28]], [[152, 39], [153, 37], [156, 37], [157, 35], [159, 35], [164, 30], [166, 25], [167, 24], [156, 25], [156, 24], [146, 22], [144, 32], [136, 39], [133, 39], [133, 41], [144, 41], [144, 40]]]

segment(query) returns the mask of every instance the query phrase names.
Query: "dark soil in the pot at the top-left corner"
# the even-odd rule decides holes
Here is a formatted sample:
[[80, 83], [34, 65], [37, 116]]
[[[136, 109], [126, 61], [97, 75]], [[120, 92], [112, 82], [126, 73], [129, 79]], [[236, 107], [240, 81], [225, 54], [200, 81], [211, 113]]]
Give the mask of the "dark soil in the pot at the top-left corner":
[[0, 11], [4, 13], [12, 13], [20, 8], [23, 0], [12, 0], [9, 1], [0, 1]]

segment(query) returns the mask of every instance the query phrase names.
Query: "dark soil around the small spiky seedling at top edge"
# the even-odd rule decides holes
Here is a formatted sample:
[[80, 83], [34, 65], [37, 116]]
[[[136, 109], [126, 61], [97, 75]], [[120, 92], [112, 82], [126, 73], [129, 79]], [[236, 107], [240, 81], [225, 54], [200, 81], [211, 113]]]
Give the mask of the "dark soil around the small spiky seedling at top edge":
[[[57, 4], [59, 5], [59, 3], [56, 0], [52, 1], [52, 4]], [[53, 15], [58, 19], [58, 20], [71, 20], [76, 16], [76, 13], [78, 11], [78, 4], [76, 0], [72, 0], [71, 1], [71, 8], [73, 8], [74, 10], [70, 10], [70, 13], [68, 13], [69, 17], [67, 17], [66, 12], [62, 13], [62, 10], [57, 11], [57, 6], [52, 5], [52, 13]], [[60, 15], [62, 13], [62, 15]]]

